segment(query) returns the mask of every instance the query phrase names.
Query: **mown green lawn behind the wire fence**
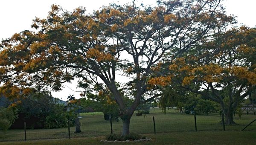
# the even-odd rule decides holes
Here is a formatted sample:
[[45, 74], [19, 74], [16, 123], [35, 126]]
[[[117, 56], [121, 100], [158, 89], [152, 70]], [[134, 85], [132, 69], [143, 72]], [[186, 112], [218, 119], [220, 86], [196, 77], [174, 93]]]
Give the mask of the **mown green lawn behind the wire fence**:
[[[167, 110], [167, 113], [161, 113], [161, 110], [155, 108], [151, 109], [150, 114], [143, 116], [133, 116], [131, 118], [130, 132], [139, 134], [154, 133], [153, 116], [155, 118], [156, 132], [157, 133], [187, 133], [195, 131], [195, 122], [193, 115], [182, 113], [175, 113], [175, 110]], [[102, 113], [83, 113], [84, 116], [80, 119], [81, 133], [74, 133], [75, 127], [71, 127], [71, 138], [79, 137], [95, 137], [105, 136], [111, 133], [110, 122], [105, 121]], [[240, 131], [244, 126], [255, 119], [254, 115], [243, 114], [241, 119], [235, 116], [237, 125], [226, 126], [227, 131]], [[211, 113], [208, 116], [202, 114], [197, 115], [197, 128], [198, 131], [216, 131], [222, 130], [221, 117], [217, 113]], [[122, 121], [113, 121], [113, 132], [121, 133]], [[256, 122], [246, 128], [246, 131], [256, 131]], [[175, 134], [174, 133], [174, 134]], [[29, 129], [27, 130], [27, 140], [35, 139], [60, 139], [68, 138], [68, 129]], [[9, 130], [5, 134], [0, 133], [0, 141], [15, 141], [23, 140], [23, 130]]]

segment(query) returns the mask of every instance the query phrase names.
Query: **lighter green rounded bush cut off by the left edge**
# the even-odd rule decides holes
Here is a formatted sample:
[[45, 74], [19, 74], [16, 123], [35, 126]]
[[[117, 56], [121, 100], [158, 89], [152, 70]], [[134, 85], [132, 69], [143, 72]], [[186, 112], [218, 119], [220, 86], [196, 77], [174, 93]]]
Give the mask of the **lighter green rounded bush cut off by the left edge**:
[[17, 108], [10, 106], [8, 108], [0, 107], [0, 130], [7, 131], [12, 123], [17, 119]]

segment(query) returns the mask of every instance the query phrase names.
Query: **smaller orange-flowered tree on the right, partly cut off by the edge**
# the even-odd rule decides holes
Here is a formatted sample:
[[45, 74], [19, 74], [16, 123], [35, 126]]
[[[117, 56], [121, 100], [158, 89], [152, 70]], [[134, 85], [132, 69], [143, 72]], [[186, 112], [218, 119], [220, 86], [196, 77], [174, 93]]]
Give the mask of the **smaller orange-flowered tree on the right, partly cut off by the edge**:
[[227, 124], [233, 124], [239, 103], [256, 89], [256, 29], [242, 26], [211, 37], [173, 61], [168, 76], [220, 104]]

